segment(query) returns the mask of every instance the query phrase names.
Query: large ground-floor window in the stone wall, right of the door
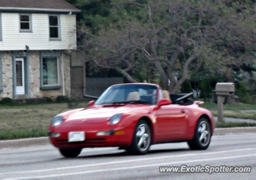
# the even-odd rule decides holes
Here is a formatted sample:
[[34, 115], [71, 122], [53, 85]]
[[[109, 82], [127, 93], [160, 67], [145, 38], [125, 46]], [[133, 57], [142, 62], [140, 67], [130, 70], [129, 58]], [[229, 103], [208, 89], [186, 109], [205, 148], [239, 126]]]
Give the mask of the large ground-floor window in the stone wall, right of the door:
[[52, 86], [59, 84], [58, 69], [59, 68], [57, 57], [42, 58], [43, 86]]

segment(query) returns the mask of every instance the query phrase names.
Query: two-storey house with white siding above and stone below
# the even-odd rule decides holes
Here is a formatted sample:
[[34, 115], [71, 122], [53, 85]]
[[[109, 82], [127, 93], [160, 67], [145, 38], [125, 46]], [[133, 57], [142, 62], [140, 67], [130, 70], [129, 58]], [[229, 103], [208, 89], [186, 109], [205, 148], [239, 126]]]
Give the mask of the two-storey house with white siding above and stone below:
[[70, 96], [78, 12], [65, 0], [0, 0], [0, 99]]

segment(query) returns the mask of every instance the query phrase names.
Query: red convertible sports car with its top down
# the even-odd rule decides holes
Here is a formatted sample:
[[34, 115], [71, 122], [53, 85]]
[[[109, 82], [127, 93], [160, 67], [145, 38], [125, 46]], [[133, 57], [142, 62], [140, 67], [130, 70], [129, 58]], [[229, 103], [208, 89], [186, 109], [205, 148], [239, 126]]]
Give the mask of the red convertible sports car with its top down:
[[188, 142], [191, 149], [208, 148], [214, 120], [203, 102], [190, 94], [170, 95], [159, 85], [113, 85], [88, 107], [57, 115], [49, 128], [50, 141], [66, 157], [82, 148], [118, 146], [146, 154], [152, 144]]

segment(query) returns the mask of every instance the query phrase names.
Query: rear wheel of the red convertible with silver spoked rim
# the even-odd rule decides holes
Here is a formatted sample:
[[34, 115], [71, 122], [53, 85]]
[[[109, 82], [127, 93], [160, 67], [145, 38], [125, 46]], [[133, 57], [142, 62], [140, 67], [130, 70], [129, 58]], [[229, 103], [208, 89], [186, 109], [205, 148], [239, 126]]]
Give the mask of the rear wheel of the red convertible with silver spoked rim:
[[192, 150], [207, 149], [211, 141], [211, 131], [208, 119], [200, 118], [196, 124], [194, 138], [188, 141], [188, 146]]

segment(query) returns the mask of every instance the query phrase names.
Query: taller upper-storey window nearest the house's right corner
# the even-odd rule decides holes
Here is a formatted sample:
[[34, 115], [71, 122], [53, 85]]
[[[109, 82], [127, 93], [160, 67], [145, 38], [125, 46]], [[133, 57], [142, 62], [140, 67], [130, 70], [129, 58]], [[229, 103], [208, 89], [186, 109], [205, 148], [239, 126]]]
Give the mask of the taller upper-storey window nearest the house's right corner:
[[50, 40], [60, 40], [59, 16], [49, 16]]

